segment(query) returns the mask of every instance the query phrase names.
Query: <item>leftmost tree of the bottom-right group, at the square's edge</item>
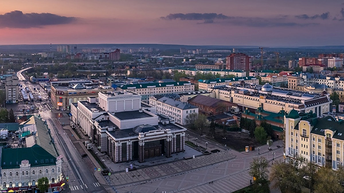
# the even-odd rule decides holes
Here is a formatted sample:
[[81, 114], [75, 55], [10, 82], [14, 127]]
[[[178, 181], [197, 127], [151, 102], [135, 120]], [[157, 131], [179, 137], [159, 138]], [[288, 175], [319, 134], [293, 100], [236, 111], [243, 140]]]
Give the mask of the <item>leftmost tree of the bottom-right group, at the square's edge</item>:
[[253, 158], [250, 163], [249, 174], [256, 177], [257, 183], [267, 183], [268, 181], [268, 160], [265, 157]]

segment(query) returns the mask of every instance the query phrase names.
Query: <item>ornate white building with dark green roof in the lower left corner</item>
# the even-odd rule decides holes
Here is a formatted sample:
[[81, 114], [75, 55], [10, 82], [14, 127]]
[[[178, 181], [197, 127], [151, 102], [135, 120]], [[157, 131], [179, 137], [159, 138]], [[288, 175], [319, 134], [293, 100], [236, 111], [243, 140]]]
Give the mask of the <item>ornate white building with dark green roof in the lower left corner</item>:
[[6, 148], [1, 152], [1, 186], [6, 192], [36, 189], [38, 179], [47, 177], [51, 191], [60, 191], [63, 183], [62, 156], [59, 156], [46, 122], [34, 117], [35, 144], [24, 148]]

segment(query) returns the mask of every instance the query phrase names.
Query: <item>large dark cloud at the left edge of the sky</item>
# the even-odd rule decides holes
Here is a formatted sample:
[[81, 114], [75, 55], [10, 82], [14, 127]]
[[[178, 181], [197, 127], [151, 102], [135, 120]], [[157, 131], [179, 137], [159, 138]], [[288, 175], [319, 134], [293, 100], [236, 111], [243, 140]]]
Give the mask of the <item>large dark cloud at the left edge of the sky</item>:
[[11, 11], [0, 15], [0, 28], [31, 28], [45, 25], [67, 24], [75, 21], [74, 17], [65, 17], [51, 13], [23, 13]]

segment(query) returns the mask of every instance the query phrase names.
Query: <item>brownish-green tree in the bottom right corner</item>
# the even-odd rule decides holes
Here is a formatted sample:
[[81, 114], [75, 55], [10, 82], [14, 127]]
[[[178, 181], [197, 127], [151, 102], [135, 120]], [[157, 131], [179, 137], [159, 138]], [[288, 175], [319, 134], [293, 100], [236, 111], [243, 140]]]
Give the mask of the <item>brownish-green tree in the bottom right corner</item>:
[[336, 193], [343, 192], [343, 186], [338, 182], [338, 178], [332, 168], [321, 167], [316, 172], [314, 190], [315, 192]]

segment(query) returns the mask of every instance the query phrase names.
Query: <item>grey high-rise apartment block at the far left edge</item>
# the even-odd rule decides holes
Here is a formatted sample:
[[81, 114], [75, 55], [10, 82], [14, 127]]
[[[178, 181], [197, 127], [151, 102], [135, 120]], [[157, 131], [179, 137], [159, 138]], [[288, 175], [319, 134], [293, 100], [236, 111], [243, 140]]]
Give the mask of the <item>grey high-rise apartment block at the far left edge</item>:
[[6, 103], [17, 103], [18, 101], [18, 77], [12, 75], [6, 78]]

